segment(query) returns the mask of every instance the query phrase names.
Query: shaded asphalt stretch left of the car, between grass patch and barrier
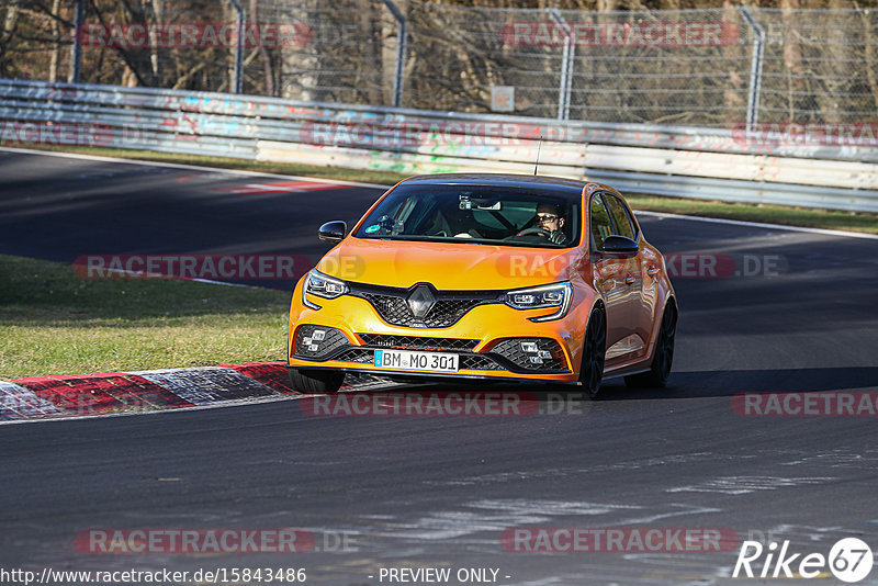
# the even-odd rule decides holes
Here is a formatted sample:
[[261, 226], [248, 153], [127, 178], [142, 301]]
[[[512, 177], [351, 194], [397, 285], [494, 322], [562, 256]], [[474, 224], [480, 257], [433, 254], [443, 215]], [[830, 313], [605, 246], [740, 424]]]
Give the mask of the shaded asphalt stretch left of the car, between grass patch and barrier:
[[[61, 262], [82, 255], [295, 252], [316, 259], [329, 249], [317, 240], [317, 227], [359, 219], [382, 192], [342, 185], [292, 191], [296, 188], [275, 188], [289, 182], [278, 177], [2, 150], [0, 177], [0, 251]], [[236, 282], [284, 291], [293, 285], [274, 279]]]

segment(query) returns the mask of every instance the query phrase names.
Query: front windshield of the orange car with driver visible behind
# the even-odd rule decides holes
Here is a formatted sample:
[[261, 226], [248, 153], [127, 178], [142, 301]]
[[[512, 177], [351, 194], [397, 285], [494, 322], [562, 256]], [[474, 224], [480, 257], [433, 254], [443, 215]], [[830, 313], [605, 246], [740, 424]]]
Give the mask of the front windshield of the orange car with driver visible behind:
[[569, 248], [579, 240], [578, 193], [487, 185], [399, 187], [357, 238]]

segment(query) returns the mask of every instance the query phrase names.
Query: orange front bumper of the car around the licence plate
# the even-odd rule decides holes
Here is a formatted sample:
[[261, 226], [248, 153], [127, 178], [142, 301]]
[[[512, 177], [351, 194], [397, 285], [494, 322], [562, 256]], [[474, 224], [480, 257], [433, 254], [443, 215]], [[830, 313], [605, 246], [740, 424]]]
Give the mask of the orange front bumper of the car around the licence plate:
[[[300, 283], [290, 311], [289, 365], [378, 375], [431, 379], [497, 379], [575, 382], [582, 358], [584, 326], [577, 303], [558, 320], [533, 323], [529, 317], [553, 309], [518, 311], [505, 304], [471, 308], [457, 323], [442, 328], [410, 328], [387, 324], [372, 304], [361, 297], [344, 295], [320, 300], [320, 309], [301, 303]], [[316, 338], [316, 339], [315, 339]], [[459, 356], [457, 372], [387, 370], [374, 365], [376, 350], [453, 352]]]

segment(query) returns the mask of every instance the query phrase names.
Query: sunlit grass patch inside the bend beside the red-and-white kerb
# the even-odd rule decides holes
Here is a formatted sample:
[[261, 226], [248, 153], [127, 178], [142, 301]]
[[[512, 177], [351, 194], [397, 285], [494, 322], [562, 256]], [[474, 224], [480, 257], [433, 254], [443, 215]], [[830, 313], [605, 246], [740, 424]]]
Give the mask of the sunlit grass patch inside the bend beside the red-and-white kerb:
[[0, 379], [283, 360], [290, 293], [0, 255]]

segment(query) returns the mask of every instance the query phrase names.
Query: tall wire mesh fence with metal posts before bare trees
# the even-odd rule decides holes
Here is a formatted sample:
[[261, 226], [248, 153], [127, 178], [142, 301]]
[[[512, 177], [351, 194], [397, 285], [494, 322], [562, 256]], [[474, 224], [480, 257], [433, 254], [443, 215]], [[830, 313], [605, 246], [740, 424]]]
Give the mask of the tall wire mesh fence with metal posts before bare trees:
[[0, 26], [10, 79], [703, 127], [878, 117], [866, 9], [4, 0]]

